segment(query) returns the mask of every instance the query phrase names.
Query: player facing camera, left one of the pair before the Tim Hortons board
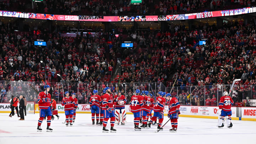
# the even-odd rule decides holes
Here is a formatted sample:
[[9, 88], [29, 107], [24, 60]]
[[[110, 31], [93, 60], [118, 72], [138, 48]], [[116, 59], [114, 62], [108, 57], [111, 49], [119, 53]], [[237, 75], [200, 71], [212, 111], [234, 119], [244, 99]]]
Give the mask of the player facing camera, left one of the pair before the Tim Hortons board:
[[65, 97], [63, 97], [62, 100], [62, 106], [64, 106], [64, 111], [65, 111], [65, 115], [66, 115], [66, 126], [68, 126], [68, 124], [70, 126], [73, 126], [73, 113], [74, 113], [74, 105], [75, 102], [73, 100], [73, 98], [71, 96], [69, 96], [69, 92], [66, 91], [65, 92]]

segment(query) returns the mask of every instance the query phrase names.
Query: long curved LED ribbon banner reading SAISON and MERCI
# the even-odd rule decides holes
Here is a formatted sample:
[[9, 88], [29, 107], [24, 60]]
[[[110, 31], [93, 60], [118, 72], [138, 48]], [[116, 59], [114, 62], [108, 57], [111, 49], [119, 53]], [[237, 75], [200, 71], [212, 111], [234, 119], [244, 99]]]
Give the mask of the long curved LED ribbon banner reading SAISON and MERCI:
[[[138, 0], [134, 0], [138, 2]], [[37, 14], [29, 12], [1, 11], [0, 16], [33, 18], [39, 20], [59, 20], [59, 21], [99, 21], [99, 22], [118, 22], [118, 21], [174, 21], [174, 20], [192, 20], [198, 18], [233, 16], [241, 14], [250, 14], [256, 12], [256, 7], [244, 7], [241, 9], [205, 11], [192, 14], [160, 15], [160, 16], [89, 16], [89, 15], [50, 15]]]

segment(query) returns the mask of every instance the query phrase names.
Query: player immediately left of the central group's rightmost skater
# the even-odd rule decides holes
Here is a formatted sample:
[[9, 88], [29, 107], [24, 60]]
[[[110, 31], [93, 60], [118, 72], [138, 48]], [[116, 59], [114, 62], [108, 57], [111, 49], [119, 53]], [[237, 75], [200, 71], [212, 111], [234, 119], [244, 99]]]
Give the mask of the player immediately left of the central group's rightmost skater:
[[159, 117], [158, 130], [163, 130], [161, 128], [162, 122], [164, 120], [164, 105], [165, 105], [165, 92], [161, 92], [160, 95], [156, 98], [156, 104], [154, 106], [154, 116], [150, 119], [148, 127], [150, 128], [151, 124]]

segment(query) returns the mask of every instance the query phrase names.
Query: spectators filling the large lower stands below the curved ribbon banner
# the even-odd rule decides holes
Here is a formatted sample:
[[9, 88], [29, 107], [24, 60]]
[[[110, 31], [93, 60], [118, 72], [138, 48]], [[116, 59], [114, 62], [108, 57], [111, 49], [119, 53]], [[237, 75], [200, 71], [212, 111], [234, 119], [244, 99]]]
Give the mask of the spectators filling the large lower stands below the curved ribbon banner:
[[[234, 79], [241, 79], [234, 86], [241, 99], [255, 98], [255, 22], [251, 18], [247, 24], [237, 20], [218, 28], [205, 23], [190, 30], [170, 25], [166, 32], [130, 31], [126, 39], [133, 41], [132, 49], [120, 47], [121, 28], [116, 30], [121, 33], [118, 38], [105, 31], [97, 31], [94, 36], [64, 37], [55, 30], [13, 32], [11, 24], [1, 23], [0, 80], [4, 82], [0, 83], [0, 100], [6, 101], [11, 90], [28, 91], [28, 101], [35, 100], [46, 79], [57, 99], [61, 100], [68, 90], [78, 94], [80, 103], [88, 101], [93, 89], [108, 85], [115, 91], [114, 83], [131, 83], [126, 90], [119, 85], [129, 101], [134, 89], [151, 89], [156, 94], [160, 89], [154, 87], [171, 87], [176, 76], [174, 85], [178, 88], [172, 95], [177, 95], [183, 105], [206, 105], [208, 97], [207, 105], [216, 105], [214, 97], [220, 98], [225, 89], [228, 91]], [[206, 45], [198, 46], [202, 38], [207, 39]], [[44, 39], [47, 46], [35, 47], [36, 39]], [[111, 79], [117, 63], [121, 67]], [[12, 81], [18, 81], [13, 88]], [[146, 84], [141, 86], [139, 82]], [[234, 99], [240, 99], [239, 95]]]

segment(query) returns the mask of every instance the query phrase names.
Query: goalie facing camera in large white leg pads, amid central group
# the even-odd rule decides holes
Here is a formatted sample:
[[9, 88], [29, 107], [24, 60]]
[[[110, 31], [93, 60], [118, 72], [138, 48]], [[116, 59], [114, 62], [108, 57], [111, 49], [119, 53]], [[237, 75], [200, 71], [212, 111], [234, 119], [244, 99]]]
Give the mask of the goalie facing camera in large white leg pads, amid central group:
[[124, 105], [126, 104], [126, 98], [124, 95], [121, 95], [121, 91], [118, 92], [118, 95], [114, 96], [114, 102], [115, 102], [115, 116], [116, 116], [116, 122], [119, 125], [125, 124], [126, 121], [126, 111]]

